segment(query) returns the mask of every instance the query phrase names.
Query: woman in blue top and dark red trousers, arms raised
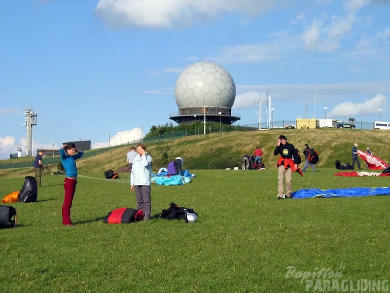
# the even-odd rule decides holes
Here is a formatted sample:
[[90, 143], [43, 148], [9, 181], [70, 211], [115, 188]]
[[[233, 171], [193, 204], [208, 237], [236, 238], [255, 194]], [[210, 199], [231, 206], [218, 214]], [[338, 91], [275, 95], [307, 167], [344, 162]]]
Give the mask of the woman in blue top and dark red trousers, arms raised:
[[74, 144], [64, 145], [60, 148], [61, 163], [64, 166], [66, 178], [64, 180], [65, 197], [62, 205], [62, 224], [71, 226], [71, 207], [76, 191], [77, 167], [75, 160], [81, 158], [84, 152]]

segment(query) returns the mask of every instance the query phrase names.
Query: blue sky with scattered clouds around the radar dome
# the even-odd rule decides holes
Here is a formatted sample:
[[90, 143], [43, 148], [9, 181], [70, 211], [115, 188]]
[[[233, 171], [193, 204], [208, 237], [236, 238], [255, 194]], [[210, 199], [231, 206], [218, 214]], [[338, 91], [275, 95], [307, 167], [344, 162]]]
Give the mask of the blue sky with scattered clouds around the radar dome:
[[138, 140], [173, 122], [177, 77], [205, 59], [235, 81], [235, 124], [257, 124], [259, 100], [264, 123], [267, 93], [274, 121], [390, 121], [389, 15], [390, 0], [3, 0], [0, 159], [24, 155], [25, 109], [33, 153]]

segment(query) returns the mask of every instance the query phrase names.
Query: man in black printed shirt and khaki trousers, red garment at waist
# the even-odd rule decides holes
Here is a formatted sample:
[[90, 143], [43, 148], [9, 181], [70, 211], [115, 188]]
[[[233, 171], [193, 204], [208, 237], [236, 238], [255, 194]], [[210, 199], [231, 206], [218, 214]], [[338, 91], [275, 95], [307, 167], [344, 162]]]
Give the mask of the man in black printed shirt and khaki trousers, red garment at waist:
[[[295, 147], [287, 143], [287, 138], [284, 135], [279, 136], [278, 144], [274, 150], [274, 156], [280, 155], [278, 160], [278, 199], [291, 198], [291, 179], [292, 172], [299, 172], [303, 176], [301, 169], [294, 162]], [[284, 193], [284, 179], [285, 191]]]

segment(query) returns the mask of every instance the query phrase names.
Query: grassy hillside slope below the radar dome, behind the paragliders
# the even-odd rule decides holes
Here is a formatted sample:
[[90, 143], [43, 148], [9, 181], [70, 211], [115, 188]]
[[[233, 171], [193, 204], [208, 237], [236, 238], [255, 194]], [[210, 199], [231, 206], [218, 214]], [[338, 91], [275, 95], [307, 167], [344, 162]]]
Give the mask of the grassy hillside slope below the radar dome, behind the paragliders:
[[[291, 129], [262, 131], [233, 131], [213, 133], [210, 135], [189, 136], [174, 141], [145, 143], [148, 152], [153, 157], [153, 171], [166, 167], [175, 157], [184, 159], [184, 168], [189, 170], [224, 169], [241, 166], [244, 154], [251, 154], [256, 146], [264, 151], [263, 160], [266, 168], [274, 167], [278, 157], [273, 155], [278, 136], [284, 134], [301, 152], [304, 144], [319, 151], [318, 168], [334, 167], [335, 160], [341, 163], [352, 163], [351, 150], [354, 143], [359, 149], [370, 147], [373, 154], [390, 162], [387, 148], [390, 138], [383, 130], [350, 130], [350, 129]], [[114, 147], [109, 152], [96, 156], [82, 158], [77, 167], [81, 174], [100, 173], [112, 169], [114, 171], [127, 166], [126, 154], [130, 146]], [[32, 158], [29, 158], [32, 160]], [[51, 168], [57, 166], [52, 165]], [[0, 170], [2, 177], [20, 177], [30, 174], [32, 168]]]

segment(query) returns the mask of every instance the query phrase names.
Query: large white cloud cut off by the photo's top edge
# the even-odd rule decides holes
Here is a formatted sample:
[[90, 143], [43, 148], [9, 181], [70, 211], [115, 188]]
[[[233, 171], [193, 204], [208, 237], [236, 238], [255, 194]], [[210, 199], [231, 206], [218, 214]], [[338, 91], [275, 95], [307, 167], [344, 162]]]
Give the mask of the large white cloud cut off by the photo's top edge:
[[291, 0], [99, 0], [95, 11], [109, 27], [170, 28], [208, 22], [230, 11], [261, 14]]

